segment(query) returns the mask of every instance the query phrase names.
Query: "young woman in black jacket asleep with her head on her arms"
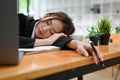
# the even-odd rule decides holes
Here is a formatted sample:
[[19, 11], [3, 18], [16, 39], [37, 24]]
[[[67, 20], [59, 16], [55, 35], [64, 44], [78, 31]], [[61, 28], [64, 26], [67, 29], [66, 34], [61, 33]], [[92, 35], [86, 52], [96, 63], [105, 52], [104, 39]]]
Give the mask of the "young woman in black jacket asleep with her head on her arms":
[[[63, 12], [48, 13], [39, 20], [34, 20], [24, 14], [18, 14], [18, 17], [20, 48], [54, 45], [61, 49], [74, 49], [84, 56], [94, 53], [90, 44], [69, 37], [75, 28], [71, 18]], [[98, 57], [103, 60], [97, 48], [96, 51]], [[97, 63], [97, 57], [95, 55], [93, 57]]]

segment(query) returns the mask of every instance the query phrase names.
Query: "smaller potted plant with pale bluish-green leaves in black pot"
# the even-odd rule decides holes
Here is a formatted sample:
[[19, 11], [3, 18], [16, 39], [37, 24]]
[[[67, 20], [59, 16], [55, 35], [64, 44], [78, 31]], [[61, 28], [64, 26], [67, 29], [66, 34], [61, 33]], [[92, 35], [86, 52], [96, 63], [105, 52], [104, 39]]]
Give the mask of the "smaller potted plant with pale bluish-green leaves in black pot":
[[88, 31], [88, 35], [86, 36], [86, 38], [89, 38], [94, 43], [94, 45], [97, 46], [99, 40], [99, 33], [97, 27], [92, 26], [87, 31]]

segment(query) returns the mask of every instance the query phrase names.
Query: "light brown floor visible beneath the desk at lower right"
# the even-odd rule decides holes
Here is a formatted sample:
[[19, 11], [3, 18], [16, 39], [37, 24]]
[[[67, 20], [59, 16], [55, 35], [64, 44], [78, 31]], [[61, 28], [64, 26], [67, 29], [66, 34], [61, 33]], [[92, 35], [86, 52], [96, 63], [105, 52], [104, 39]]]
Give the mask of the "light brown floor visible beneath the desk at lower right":
[[[117, 69], [114, 68], [113, 70], [114, 74], [116, 74]], [[86, 74], [83, 76], [83, 78], [84, 80], [114, 80], [112, 77], [112, 67]], [[77, 80], [77, 78], [70, 80]], [[120, 71], [118, 73], [117, 80], [120, 80]]]

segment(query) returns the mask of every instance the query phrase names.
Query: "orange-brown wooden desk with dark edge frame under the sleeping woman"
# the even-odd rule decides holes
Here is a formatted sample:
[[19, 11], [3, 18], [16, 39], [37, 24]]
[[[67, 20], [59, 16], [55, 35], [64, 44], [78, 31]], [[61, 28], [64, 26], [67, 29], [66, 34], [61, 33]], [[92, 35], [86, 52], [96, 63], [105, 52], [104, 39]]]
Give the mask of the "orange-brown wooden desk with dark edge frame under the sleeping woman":
[[[105, 66], [120, 63], [120, 45], [98, 46], [103, 53]], [[105, 67], [104, 67], [105, 68]], [[95, 65], [93, 57], [84, 57], [72, 50], [58, 50], [34, 55], [24, 55], [15, 66], [0, 66], [0, 80], [67, 80], [75, 76], [103, 69]], [[66, 77], [62, 77], [65, 75]], [[47, 78], [47, 79], [46, 79]]]

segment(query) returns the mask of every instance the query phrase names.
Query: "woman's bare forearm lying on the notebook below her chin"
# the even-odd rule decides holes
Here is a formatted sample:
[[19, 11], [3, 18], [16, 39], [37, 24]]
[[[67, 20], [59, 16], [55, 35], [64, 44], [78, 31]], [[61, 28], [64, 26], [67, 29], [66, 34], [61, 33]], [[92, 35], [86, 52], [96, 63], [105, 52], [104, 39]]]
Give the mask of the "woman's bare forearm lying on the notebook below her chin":
[[48, 39], [35, 39], [34, 46], [45, 46], [51, 45], [51, 42]]

